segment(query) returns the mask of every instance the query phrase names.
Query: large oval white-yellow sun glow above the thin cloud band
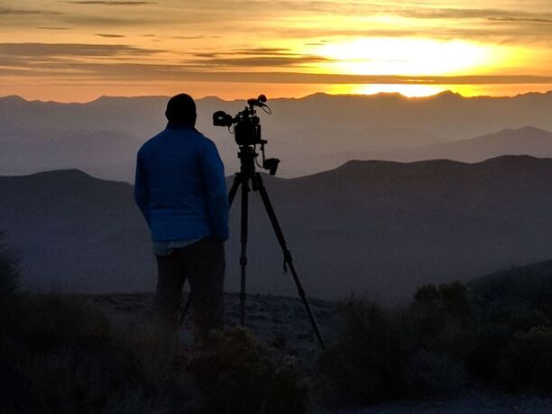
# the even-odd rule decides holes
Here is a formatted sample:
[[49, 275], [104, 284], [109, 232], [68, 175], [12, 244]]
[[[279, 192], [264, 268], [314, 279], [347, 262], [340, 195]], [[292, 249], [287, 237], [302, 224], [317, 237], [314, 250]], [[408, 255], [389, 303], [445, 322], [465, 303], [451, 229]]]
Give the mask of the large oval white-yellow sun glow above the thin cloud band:
[[364, 38], [332, 42], [314, 51], [323, 73], [436, 76], [474, 73], [497, 59], [490, 45], [435, 39]]

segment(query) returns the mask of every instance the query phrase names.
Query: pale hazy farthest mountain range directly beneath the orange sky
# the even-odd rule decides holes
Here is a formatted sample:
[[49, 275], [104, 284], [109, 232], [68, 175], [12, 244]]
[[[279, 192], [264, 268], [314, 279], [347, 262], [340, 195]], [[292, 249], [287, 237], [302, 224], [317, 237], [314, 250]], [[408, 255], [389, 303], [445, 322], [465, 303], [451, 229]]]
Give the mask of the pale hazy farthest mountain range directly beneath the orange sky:
[[[164, 127], [166, 102], [167, 97], [100, 97], [85, 104], [60, 104], [2, 97], [0, 174], [78, 169], [132, 182], [135, 153]], [[226, 171], [237, 170], [234, 138], [225, 128], [213, 126], [211, 115], [216, 110], [235, 115], [245, 102], [205, 97], [197, 103], [198, 129], [216, 142]], [[279, 175], [286, 178], [330, 170], [351, 159], [480, 161], [551, 152], [542, 137], [546, 133], [537, 129], [552, 131], [552, 91], [517, 97], [315, 94], [268, 103], [272, 115], [259, 110], [263, 138], [269, 142], [269, 156], [281, 159]], [[497, 136], [488, 136], [494, 133]]]

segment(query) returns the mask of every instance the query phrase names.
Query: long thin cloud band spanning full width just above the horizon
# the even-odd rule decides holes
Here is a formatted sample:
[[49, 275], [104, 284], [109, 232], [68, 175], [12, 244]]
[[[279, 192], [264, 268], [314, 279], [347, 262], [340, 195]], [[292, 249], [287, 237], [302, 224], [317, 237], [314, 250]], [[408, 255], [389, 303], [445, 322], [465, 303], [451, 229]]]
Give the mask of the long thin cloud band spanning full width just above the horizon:
[[[255, 62], [256, 63], [256, 62]], [[263, 62], [261, 62], [263, 63]], [[279, 62], [283, 67], [290, 62]], [[251, 65], [252, 62], [248, 62]], [[130, 62], [93, 62], [79, 60], [35, 60], [29, 65], [25, 60], [0, 55], [0, 76], [19, 76], [41, 80], [55, 79], [62, 84], [78, 84], [86, 81], [203, 81], [271, 84], [404, 84], [404, 85], [486, 85], [486, 84], [552, 84], [546, 76], [387, 76], [343, 75], [298, 72], [217, 71], [206, 67], [189, 67], [177, 64], [147, 64]], [[29, 68], [32, 68], [30, 70]], [[215, 69], [217, 66], [211, 66]]]

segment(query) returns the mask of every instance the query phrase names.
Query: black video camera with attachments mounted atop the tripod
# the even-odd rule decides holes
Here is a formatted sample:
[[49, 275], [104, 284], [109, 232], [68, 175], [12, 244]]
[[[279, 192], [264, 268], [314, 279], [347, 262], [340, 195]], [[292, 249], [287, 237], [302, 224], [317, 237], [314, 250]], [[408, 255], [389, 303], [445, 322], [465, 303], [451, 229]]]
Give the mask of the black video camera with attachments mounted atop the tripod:
[[[226, 126], [230, 133], [234, 133], [235, 143], [240, 146], [240, 153], [253, 153], [254, 157], [257, 156], [255, 152], [256, 145], [261, 145], [262, 151], [262, 167], [264, 170], [269, 170], [271, 175], [276, 174], [278, 170], [278, 164], [280, 160], [277, 158], [264, 158], [264, 144], [267, 143], [261, 137], [261, 120], [257, 116], [255, 106], [259, 106], [262, 110], [271, 114], [270, 106], [266, 105], [266, 96], [259, 95], [259, 97], [252, 97], [247, 99], [247, 105], [244, 110], [238, 112], [235, 116], [228, 115], [225, 111], [216, 111], [213, 114], [213, 124], [215, 126]], [[234, 126], [234, 128], [232, 128]]]

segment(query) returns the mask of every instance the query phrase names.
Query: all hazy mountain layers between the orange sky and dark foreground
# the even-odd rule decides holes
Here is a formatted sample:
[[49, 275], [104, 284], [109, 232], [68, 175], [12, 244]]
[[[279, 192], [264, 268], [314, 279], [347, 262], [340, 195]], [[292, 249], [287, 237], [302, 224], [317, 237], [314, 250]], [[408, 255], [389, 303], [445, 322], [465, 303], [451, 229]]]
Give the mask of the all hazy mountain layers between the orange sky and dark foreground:
[[[33, 286], [152, 290], [147, 228], [132, 187], [113, 180], [132, 183], [135, 152], [163, 128], [165, 102], [0, 98], [0, 175], [6, 176], [0, 179], [0, 228], [23, 253]], [[267, 179], [309, 294], [336, 299], [356, 292], [391, 303], [421, 283], [465, 280], [552, 257], [552, 161], [484, 161], [552, 156], [552, 92], [504, 98], [316, 94], [269, 104], [272, 115], [260, 115], [269, 155], [282, 160], [278, 177], [316, 173]], [[198, 129], [216, 142], [228, 184], [238, 167], [237, 146], [225, 128], [212, 125], [211, 114], [235, 114], [243, 105], [198, 100]], [[44, 170], [52, 171], [7, 177]], [[228, 290], [238, 283], [234, 210]], [[294, 295], [254, 195], [251, 222], [248, 286]]]

